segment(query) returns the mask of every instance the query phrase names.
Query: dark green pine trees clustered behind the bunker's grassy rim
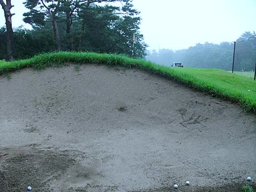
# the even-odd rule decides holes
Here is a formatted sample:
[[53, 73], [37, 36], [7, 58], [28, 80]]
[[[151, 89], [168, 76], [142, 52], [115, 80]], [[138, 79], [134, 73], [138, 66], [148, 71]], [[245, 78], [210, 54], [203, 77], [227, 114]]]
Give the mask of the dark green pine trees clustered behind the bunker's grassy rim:
[[[11, 0], [6, 5], [0, 1], [10, 14]], [[26, 0], [24, 5], [29, 12], [23, 20], [33, 29], [14, 28], [9, 53], [10, 26], [0, 28], [0, 59], [60, 50], [146, 56], [147, 44], [139, 32], [141, 18], [132, 0]]]

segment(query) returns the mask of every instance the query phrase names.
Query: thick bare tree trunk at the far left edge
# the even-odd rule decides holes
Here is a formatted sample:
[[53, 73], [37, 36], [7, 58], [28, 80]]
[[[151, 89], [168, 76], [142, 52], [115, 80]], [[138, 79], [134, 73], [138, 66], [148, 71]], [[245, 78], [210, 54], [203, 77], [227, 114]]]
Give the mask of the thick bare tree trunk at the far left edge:
[[6, 32], [7, 32], [7, 59], [13, 60], [14, 59], [14, 33], [12, 28], [12, 19], [11, 17], [14, 14], [11, 14], [10, 9], [13, 7], [11, 5], [11, 0], [6, 0], [6, 5], [3, 0], [0, 0], [0, 4], [5, 12], [5, 24], [6, 24]]

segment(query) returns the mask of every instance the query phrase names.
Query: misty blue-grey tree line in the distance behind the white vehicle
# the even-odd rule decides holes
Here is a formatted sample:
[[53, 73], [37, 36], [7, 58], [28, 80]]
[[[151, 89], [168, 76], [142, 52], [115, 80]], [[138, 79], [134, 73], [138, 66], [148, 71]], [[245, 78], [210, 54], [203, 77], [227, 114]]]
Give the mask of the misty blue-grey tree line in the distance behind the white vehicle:
[[[185, 67], [214, 68], [232, 70], [233, 42], [213, 44], [197, 43], [194, 47], [173, 51], [161, 49], [147, 51], [147, 60], [160, 65], [171, 66], [175, 61], [181, 61]], [[245, 32], [236, 40], [234, 70], [251, 71], [256, 62], [256, 33]]]

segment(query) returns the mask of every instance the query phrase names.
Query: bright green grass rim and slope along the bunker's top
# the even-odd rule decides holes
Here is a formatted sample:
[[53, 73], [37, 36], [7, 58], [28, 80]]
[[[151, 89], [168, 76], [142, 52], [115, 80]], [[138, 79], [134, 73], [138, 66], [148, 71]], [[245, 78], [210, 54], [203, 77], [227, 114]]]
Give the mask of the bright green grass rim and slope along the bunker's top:
[[92, 63], [145, 70], [152, 74], [176, 80], [206, 94], [238, 102], [245, 112], [256, 113], [256, 81], [223, 70], [171, 68], [156, 65], [143, 59], [133, 59], [116, 54], [53, 52], [40, 54], [25, 60], [1, 62], [0, 74], [6, 74], [24, 67], [45, 69], [49, 66], [64, 65], [67, 62], [76, 64], [77, 69], [81, 64]]

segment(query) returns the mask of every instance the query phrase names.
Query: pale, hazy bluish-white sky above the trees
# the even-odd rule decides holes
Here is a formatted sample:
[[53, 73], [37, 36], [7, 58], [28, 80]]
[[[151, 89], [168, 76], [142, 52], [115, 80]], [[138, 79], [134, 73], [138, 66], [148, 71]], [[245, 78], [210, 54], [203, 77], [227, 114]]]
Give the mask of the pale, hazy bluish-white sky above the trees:
[[[13, 27], [24, 25], [24, 0], [12, 0]], [[133, 0], [141, 11], [141, 33], [148, 49], [183, 49], [196, 43], [235, 41], [256, 31], [256, 0]], [[0, 26], [5, 25], [0, 9]]]

